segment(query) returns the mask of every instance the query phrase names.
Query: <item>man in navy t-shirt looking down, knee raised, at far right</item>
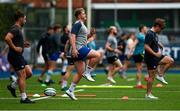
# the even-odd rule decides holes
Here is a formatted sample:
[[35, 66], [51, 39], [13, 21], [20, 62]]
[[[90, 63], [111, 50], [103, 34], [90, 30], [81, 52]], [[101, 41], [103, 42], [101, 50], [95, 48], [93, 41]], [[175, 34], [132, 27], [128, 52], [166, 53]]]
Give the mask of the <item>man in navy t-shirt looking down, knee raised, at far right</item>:
[[152, 84], [157, 73], [157, 66], [163, 65], [163, 68], [158, 72], [157, 79], [162, 83], [168, 84], [164, 78], [164, 73], [173, 65], [174, 60], [170, 56], [164, 56], [161, 54], [160, 49], [163, 48], [162, 44], [158, 42], [157, 34], [160, 33], [165, 27], [165, 20], [156, 18], [151, 30], [149, 30], [145, 37], [145, 62], [147, 64], [149, 79], [147, 81], [147, 94], [146, 98], [158, 99], [152, 95]]

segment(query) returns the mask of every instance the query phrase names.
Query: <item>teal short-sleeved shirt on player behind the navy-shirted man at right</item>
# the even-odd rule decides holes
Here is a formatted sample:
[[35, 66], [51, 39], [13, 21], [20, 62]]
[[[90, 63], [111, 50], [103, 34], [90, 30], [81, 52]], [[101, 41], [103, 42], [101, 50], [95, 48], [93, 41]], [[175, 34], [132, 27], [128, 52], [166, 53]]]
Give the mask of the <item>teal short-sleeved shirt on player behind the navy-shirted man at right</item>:
[[136, 38], [138, 39], [138, 43], [135, 47], [133, 55], [143, 54], [144, 53], [145, 35], [143, 33], [138, 33]]

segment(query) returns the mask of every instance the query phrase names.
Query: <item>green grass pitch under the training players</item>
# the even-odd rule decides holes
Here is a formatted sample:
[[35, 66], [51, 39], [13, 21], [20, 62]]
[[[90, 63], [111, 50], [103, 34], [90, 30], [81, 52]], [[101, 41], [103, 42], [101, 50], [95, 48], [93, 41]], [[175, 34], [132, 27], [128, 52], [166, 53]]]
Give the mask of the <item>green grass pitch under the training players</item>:
[[[128, 76], [135, 78], [134, 75]], [[58, 85], [59, 75], [54, 75], [56, 84], [51, 85], [57, 90], [58, 95], [63, 94]], [[92, 88], [84, 89], [76, 94], [93, 94], [95, 97], [78, 97], [78, 101], [72, 101], [69, 98], [59, 96], [48, 99], [38, 100], [35, 104], [20, 104], [19, 98], [13, 98], [6, 90], [9, 80], [0, 80], [0, 110], [180, 110], [180, 75], [167, 74], [169, 85], [161, 88], [153, 88], [153, 94], [158, 96], [159, 100], [145, 100], [146, 90], [136, 88]], [[34, 76], [27, 81], [27, 93], [42, 94], [45, 87], [37, 82]], [[72, 78], [70, 79], [70, 81]], [[135, 80], [122, 80], [116, 76], [116, 85], [135, 85]], [[96, 82], [88, 82], [82, 78], [79, 85], [100, 85], [106, 83], [105, 75], [97, 75]], [[146, 84], [143, 81], [144, 84]], [[159, 83], [154, 82], [154, 86]], [[80, 88], [82, 89], [82, 88]], [[19, 92], [17, 92], [19, 94]], [[140, 98], [139, 100], [122, 100], [123, 96], [129, 98]]]

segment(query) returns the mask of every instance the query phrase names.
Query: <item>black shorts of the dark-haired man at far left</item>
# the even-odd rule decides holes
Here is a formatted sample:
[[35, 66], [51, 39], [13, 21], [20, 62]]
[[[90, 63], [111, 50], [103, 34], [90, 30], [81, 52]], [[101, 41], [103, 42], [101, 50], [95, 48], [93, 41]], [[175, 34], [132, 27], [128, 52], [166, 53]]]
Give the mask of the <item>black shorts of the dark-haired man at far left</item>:
[[15, 71], [22, 70], [27, 65], [27, 61], [24, 59], [22, 54], [17, 54], [15, 52], [8, 53], [8, 61]]

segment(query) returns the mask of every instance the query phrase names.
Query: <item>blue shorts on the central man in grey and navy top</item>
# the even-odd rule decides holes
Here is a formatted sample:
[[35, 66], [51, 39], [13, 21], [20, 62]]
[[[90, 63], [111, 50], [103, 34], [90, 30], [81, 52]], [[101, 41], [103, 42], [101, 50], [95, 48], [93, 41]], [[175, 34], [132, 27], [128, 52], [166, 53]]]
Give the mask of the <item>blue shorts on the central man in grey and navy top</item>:
[[86, 60], [86, 57], [87, 57], [87, 55], [89, 54], [90, 51], [91, 51], [91, 49], [88, 48], [87, 46], [81, 47], [78, 50], [78, 52], [79, 52], [78, 58], [76, 58], [75, 60], [83, 60], [83, 61]]

